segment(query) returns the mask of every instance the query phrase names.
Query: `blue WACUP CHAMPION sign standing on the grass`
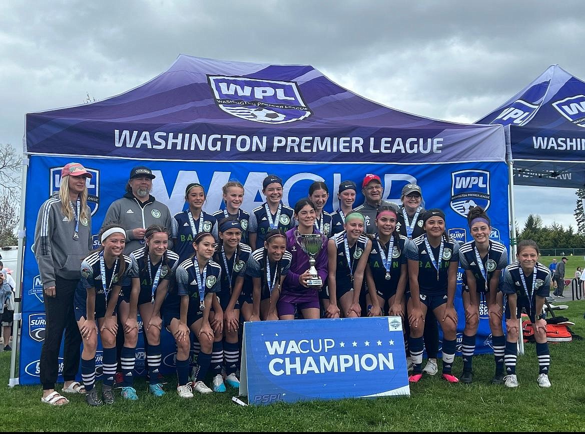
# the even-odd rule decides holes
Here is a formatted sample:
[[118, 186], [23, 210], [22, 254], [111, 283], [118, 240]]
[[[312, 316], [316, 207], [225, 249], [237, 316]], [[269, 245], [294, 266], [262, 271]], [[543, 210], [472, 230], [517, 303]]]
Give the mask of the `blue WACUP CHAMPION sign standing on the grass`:
[[250, 404], [409, 395], [400, 317], [244, 324]]

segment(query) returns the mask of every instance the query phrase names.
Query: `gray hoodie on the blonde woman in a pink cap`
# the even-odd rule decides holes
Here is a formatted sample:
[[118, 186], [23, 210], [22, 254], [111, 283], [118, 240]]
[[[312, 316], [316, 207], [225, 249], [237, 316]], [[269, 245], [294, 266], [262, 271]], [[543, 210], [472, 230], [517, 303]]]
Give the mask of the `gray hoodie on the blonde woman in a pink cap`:
[[37, 217], [34, 245], [43, 289], [55, 286], [57, 276], [69, 280], [81, 278], [81, 260], [88, 255], [93, 244], [91, 218], [88, 221], [80, 221], [78, 239], [73, 239], [74, 233], [75, 218], [69, 221], [63, 215], [59, 195], [46, 200], [40, 207]]

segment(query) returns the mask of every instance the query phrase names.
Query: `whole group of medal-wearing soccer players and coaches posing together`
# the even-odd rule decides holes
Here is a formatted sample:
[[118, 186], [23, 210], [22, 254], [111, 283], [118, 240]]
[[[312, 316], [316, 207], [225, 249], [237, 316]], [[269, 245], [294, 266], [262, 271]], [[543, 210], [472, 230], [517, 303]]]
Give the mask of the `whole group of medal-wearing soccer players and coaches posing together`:
[[[156, 175], [137, 165], [125, 195], [106, 211], [94, 248], [98, 230], [92, 231], [87, 188], [93, 175], [78, 162], [60, 175], [59, 192], [38, 211], [33, 245], [46, 313], [39, 363], [46, 404], [68, 404], [67, 394], [75, 393], [85, 394], [91, 406], [113, 404], [115, 390], [138, 400], [139, 317], [148, 392], [156, 397], [174, 388], [174, 380], [166, 387], [160, 372], [163, 338], [171, 336], [176, 345], [177, 394], [192, 398], [239, 388], [244, 322], [319, 318], [398, 316], [411, 385], [435, 374], [469, 384], [481, 304], [491, 331], [491, 383], [518, 387], [518, 319], [524, 312], [535, 330], [538, 386], [551, 385], [542, 313], [550, 270], [538, 262], [531, 240], [519, 242], [516, 262], [509, 264], [506, 246], [490, 239], [490, 217], [480, 206], [467, 210], [472, 239], [460, 242], [446, 230], [443, 210], [424, 208], [417, 183], [402, 188], [397, 204], [383, 200], [378, 175], [342, 180], [337, 191], [315, 181], [288, 207], [283, 179], [271, 174], [262, 181], [265, 202], [255, 209], [241, 208], [245, 188], [229, 180], [221, 209], [207, 213], [204, 186], [191, 182], [184, 186], [186, 210], [173, 216], [151, 195]], [[329, 213], [324, 208], [332, 195], [339, 208]], [[459, 268], [457, 296], [465, 318], [463, 369], [456, 371]], [[64, 384], [57, 389], [59, 374]]]

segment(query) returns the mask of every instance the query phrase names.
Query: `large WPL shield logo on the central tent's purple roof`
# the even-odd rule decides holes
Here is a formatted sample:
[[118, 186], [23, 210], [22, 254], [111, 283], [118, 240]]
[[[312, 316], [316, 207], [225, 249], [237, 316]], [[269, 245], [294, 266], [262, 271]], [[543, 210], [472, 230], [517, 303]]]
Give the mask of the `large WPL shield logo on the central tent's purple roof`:
[[311, 114], [295, 82], [212, 75], [207, 78], [215, 103], [232, 116], [283, 124], [305, 119]]

